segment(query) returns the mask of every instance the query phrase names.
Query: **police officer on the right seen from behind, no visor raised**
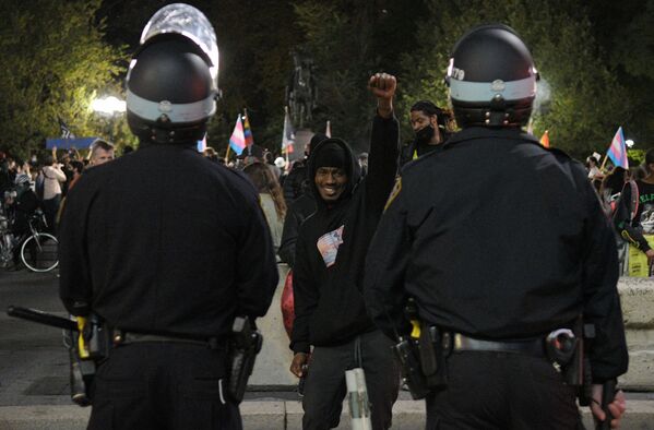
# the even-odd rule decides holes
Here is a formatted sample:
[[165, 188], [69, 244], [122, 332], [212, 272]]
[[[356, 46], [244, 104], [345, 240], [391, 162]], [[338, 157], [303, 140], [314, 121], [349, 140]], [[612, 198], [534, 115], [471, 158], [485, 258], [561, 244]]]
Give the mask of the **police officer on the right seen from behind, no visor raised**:
[[[522, 132], [537, 72], [511, 28], [465, 34], [447, 80], [463, 131], [403, 170], [367, 258], [368, 311], [404, 336], [415, 299], [421, 371], [438, 368], [428, 429], [575, 429], [582, 390], [570, 375], [588, 369], [575, 360], [583, 349], [603, 420], [603, 384], [627, 371], [628, 354], [597, 196], [581, 164]], [[625, 397], [606, 403], [617, 426]]]

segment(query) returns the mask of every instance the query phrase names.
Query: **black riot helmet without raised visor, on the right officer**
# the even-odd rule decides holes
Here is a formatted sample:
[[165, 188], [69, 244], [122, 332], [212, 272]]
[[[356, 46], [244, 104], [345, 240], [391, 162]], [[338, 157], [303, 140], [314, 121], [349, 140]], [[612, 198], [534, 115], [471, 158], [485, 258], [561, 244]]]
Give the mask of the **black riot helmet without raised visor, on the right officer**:
[[501, 24], [467, 32], [454, 46], [445, 76], [454, 117], [463, 128], [525, 126], [537, 80], [526, 45]]

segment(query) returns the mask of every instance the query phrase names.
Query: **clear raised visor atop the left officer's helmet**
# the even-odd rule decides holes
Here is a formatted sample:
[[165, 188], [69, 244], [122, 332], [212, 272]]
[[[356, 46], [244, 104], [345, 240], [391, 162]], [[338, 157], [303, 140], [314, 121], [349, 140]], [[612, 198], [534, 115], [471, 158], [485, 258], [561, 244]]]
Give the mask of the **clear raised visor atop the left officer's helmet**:
[[211, 76], [217, 85], [218, 45], [216, 34], [206, 16], [189, 4], [168, 4], [152, 15], [141, 34], [141, 45], [155, 36], [170, 33], [188, 37], [204, 51], [211, 62]]

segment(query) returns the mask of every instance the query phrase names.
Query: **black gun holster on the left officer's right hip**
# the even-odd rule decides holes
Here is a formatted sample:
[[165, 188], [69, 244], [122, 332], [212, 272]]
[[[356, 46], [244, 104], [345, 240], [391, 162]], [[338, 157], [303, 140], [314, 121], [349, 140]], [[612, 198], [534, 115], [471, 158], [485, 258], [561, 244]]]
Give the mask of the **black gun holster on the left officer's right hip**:
[[248, 379], [262, 345], [263, 336], [252, 329], [248, 316], [237, 316], [231, 327], [227, 378], [227, 394], [236, 404], [243, 399]]

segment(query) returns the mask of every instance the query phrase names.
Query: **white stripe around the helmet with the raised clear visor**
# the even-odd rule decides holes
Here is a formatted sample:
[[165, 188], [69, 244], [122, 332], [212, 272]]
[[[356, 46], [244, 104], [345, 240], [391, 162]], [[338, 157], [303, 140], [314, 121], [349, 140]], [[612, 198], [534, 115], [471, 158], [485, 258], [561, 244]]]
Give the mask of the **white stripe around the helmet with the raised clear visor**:
[[186, 104], [173, 104], [167, 100], [150, 101], [127, 91], [127, 109], [148, 121], [156, 121], [166, 115], [173, 123], [197, 122], [211, 117], [216, 111], [215, 94], [203, 100]]

